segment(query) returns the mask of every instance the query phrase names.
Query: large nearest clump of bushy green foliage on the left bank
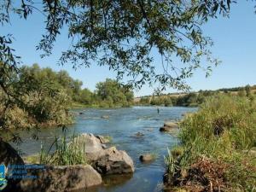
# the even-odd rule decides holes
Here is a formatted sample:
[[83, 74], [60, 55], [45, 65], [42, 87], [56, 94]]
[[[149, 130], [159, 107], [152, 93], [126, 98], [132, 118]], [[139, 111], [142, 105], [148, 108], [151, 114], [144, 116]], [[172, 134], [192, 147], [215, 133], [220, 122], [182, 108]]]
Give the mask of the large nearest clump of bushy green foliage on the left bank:
[[72, 122], [72, 116], [68, 113], [72, 99], [67, 95], [68, 90], [56, 80], [56, 73], [51, 69], [41, 69], [36, 64], [21, 67], [19, 75], [9, 79], [9, 86], [12, 88], [10, 94], [19, 100], [0, 96], [2, 128], [63, 125]]

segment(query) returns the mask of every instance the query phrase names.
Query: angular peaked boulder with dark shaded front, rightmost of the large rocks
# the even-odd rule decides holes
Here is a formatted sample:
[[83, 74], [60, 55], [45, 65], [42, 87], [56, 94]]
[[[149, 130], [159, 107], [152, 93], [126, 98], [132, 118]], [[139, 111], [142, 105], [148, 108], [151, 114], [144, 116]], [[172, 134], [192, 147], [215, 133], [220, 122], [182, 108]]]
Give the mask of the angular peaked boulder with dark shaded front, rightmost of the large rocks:
[[134, 172], [131, 157], [125, 151], [117, 150], [115, 147], [104, 150], [104, 153], [95, 161], [94, 167], [103, 175]]

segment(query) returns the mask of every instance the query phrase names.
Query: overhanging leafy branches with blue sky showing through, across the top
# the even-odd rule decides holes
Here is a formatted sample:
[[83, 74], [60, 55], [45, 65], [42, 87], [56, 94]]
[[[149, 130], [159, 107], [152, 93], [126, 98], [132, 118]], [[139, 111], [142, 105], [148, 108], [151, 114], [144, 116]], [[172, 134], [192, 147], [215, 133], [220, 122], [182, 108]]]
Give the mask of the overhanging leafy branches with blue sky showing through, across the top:
[[[55, 40], [63, 27], [68, 28], [70, 49], [65, 50], [60, 64], [73, 63], [90, 67], [92, 61], [117, 72], [117, 78], [130, 77], [129, 83], [140, 87], [159, 82], [162, 88], [187, 88], [184, 79], [199, 67], [211, 71], [210, 38], [201, 25], [209, 18], [227, 15], [230, 0], [3, 0], [0, 22], [6, 25], [12, 15], [26, 19], [34, 12], [45, 16], [45, 32], [37, 49], [52, 54]], [[6, 73], [17, 70], [19, 56], [11, 48], [12, 35], [0, 34], [1, 82]], [[156, 70], [153, 50], [162, 56], [162, 72]], [[173, 58], [179, 59], [177, 63]], [[201, 61], [208, 61], [201, 66]]]

